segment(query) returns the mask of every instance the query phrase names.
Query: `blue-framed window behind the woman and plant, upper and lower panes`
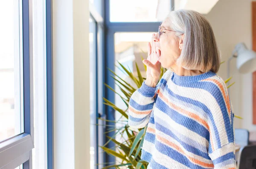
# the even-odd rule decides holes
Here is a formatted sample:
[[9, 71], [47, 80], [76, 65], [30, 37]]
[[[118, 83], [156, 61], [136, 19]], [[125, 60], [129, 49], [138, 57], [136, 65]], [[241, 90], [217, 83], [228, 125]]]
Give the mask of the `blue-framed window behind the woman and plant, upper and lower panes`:
[[[151, 42], [152, 33], [157, 32], [160, 23], [163, 22], [169, 11], [171, 11], [174, 0], [106, 0], [105, 2], [105, 23], [107, 27], [105, 35], [105, 82], [118, 93], [122, 93], [119, 87], [116, 86], [111, 77], [112, 73], [109, 73], [108, 68], [114, 70], [126, 82], [131, 82], [115, 65], [118, 65], [116, 64], [117, 62], [122, 63], [136, 76], [135, 62], [137, 62], [142, 76], [146, 76], [141, 56], [147, 57], [147, 44]], [[106, 88], [105, 93], [106, 99], [117, 105], [118, 108], [126, 110], [127, 106], [117, 94]], [[105, 109], [105, 114], [108, 121], [116, 121], [121, 117], [120, 113], [116, 113], [110, 107]], [[112, 126], [107, 125], [105, 131], [111, 130], [113, 125], [115, 125], [116, 129], [120, 128], [119, 124], [110, 122], [107, 124]], [[116, 137], [120, 142], [123, 141], [119, 135], [115, 135], [115, 132], [108, 133], [108, 136]], [[115, 144], [108, 144], [110, 149], [114, 150], [115, 147]], [[105, 159], [104, 162], [107, 165], [122, 162], [118, 158], [112, 158], [110, 155], [107, 155]]]

